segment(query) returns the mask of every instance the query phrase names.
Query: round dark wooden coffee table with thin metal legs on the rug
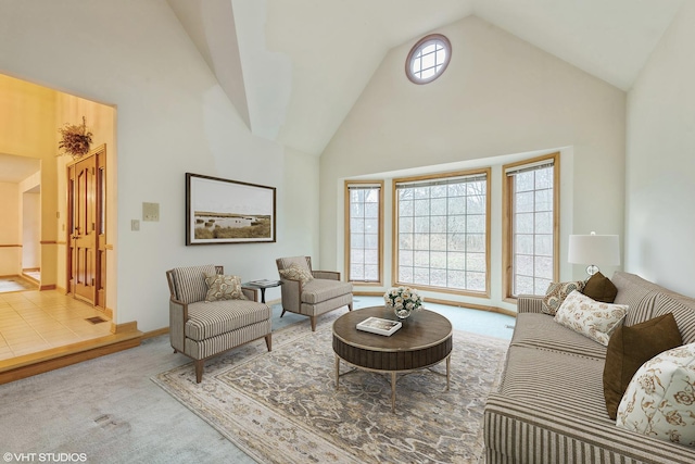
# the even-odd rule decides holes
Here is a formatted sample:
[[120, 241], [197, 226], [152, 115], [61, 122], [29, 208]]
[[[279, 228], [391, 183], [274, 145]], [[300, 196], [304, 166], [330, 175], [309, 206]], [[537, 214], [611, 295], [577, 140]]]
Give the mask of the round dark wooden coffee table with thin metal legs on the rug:
[[396, 319], [391, 308], [372, 306], [345, 313], [333, 323], [336, 389], [340, 376], [352, 372], [340, 374], [341, 360], [356, 368], [391, 374], [391, 411], [395, 411], [396, 375], [432, 367], [446, 360], [448, 390], [453, 331], [446, 317], [420, 310], [388, 337], [357, 330], [358, 323], [372, 316]]

